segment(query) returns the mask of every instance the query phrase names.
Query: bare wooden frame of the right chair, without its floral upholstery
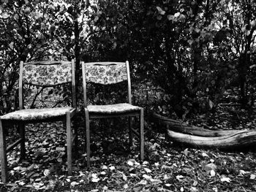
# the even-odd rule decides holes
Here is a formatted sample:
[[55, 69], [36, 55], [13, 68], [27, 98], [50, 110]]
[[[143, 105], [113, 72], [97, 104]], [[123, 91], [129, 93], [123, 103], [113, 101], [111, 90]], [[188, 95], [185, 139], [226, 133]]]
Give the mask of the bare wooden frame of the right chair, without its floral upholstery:
[[[90, 157], [91, 157], [91, 149], [90, 149], [90, 126], [89, 126], [89, 120], [90, 119], [97, 119], [97, 118], [115, 118], [115, 117], [129, 117], [129, 145], [132, 145], [132, 138], [133, 134], [138, 136], [140, 138], [140, 160], [143, 161], [144, 159], [144, 112], [143, 108], [141, 107], [139, 111], [136, 112], [125, 112], [121, 114], [102, 114], [102, 113], [94, 113], [90, 114], [87, 106], [87, 89], [86, 89], [86, 65], [91, 65], [91, 66], [109, 66], [112, 64], [116, 65], [126, 65], [127, 68], [127, 84], [128, 84], [128, 103], [132, 104], [132, 89], [131, 89], [131, 79], [130, 79], [130, 74], [129, 74], [129, 62], [90, 62], [90, 63], [85, 63], [82, 62], [82, 74], [83, 74], [83, 104], [84, 104], [84, 110], [85, 110], [85, 117], [86, 117], [86, 153], [87, 153], [87, 166], [91, 166], [90, 162]], [[134, 128], [132, 128], [132, 117], [138, 116], [140, 117], [140, 133], [136, 131]]]

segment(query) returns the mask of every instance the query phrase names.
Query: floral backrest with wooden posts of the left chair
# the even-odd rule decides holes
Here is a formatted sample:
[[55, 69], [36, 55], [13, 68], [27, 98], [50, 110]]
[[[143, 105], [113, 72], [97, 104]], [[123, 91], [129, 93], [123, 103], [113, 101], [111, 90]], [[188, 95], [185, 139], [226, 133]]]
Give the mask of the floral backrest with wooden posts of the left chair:
[[[72, 107], [76, 107], [75, 99], [75, 61], [34, 61], [24, 63], [20, 61], [20, 78], [19, 78], [19, 107], [23, 109], [24, 86], [27, 85], [33, 93], [34, 101], [38, 97], [46, 99], [50, 97], [50, 93], [56, 91], [57, 86], [71, 83], [69, 93], [72, 94]], [[52, 89], [50, 89], [52, 88]], [[38, 91], [38, 89], [40, 91]], [[43, 90], [49, 90], [43, 92]], [[29, 90], [30, 91], [30, 90]], [[50, 92], [50, 93], [49, 93]], [[53, 100], [56, 98], [52, 98]], [[42, 107], [42, 106], [41, 106]], [[33, 107], [34, 108], [34, 107]]]

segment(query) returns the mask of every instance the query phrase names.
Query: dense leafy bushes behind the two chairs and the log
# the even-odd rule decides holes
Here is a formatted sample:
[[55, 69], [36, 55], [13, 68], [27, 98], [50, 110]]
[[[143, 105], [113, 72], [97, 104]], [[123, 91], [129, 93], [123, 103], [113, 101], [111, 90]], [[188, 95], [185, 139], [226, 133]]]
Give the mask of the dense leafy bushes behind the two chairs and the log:
[[80, 61], [129, 60], [134, 100], [178, 118], [214, 110], [227, 89], [254, 107], [255, 12], [244, 0], [1, 0], [0, 115], [17, 108], [19, 61], [47, 58], [75, 58], [78, 85]]

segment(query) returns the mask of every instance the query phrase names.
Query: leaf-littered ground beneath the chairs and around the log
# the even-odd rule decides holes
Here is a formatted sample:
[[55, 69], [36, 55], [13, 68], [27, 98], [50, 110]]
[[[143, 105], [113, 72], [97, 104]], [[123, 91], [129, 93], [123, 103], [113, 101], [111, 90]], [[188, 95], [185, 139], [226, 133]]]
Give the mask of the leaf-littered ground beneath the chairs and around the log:
[[[211, 129], [242, 129], [255, 128], [255, 121], [255, 111], [228, 106], [190, 123]], [[113, 135], [117, 123], [107, 124], [108, 131], [104, 123], [95, 126], [102, 128], [102, 134], [92, 131], [91, 169], [84, 166], [84, 138], [80, 137], [80, 155], [73, 162], [72, 176], [67, 176], [63, 124], [27, 126], [27, 158], [18, 162], [18, 147], [8, 153], [10, 182], [0, 183], [0, 191], [256, 191], [253, 147], [243, 151], [188, 148], [168, 141], [148, 123], [146, 158], [139, 161], [138, 148], [127, 147], [127, 134], [120, 128]]]

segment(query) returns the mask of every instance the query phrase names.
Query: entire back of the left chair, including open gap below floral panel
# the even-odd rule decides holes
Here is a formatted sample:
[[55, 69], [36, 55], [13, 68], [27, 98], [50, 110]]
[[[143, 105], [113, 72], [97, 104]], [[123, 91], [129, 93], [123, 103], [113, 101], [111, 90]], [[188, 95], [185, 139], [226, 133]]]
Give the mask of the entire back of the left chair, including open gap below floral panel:
[[[22, 74], [19, 81], [20, 109], [70, 105], [74, 107], [74, 61], [37, 61], [29, 63], [21, 61], [20, 74]], [[72, 89], [70, 85], [72, 85]], [[70, 98], [72, 98], [72, 101]]]

